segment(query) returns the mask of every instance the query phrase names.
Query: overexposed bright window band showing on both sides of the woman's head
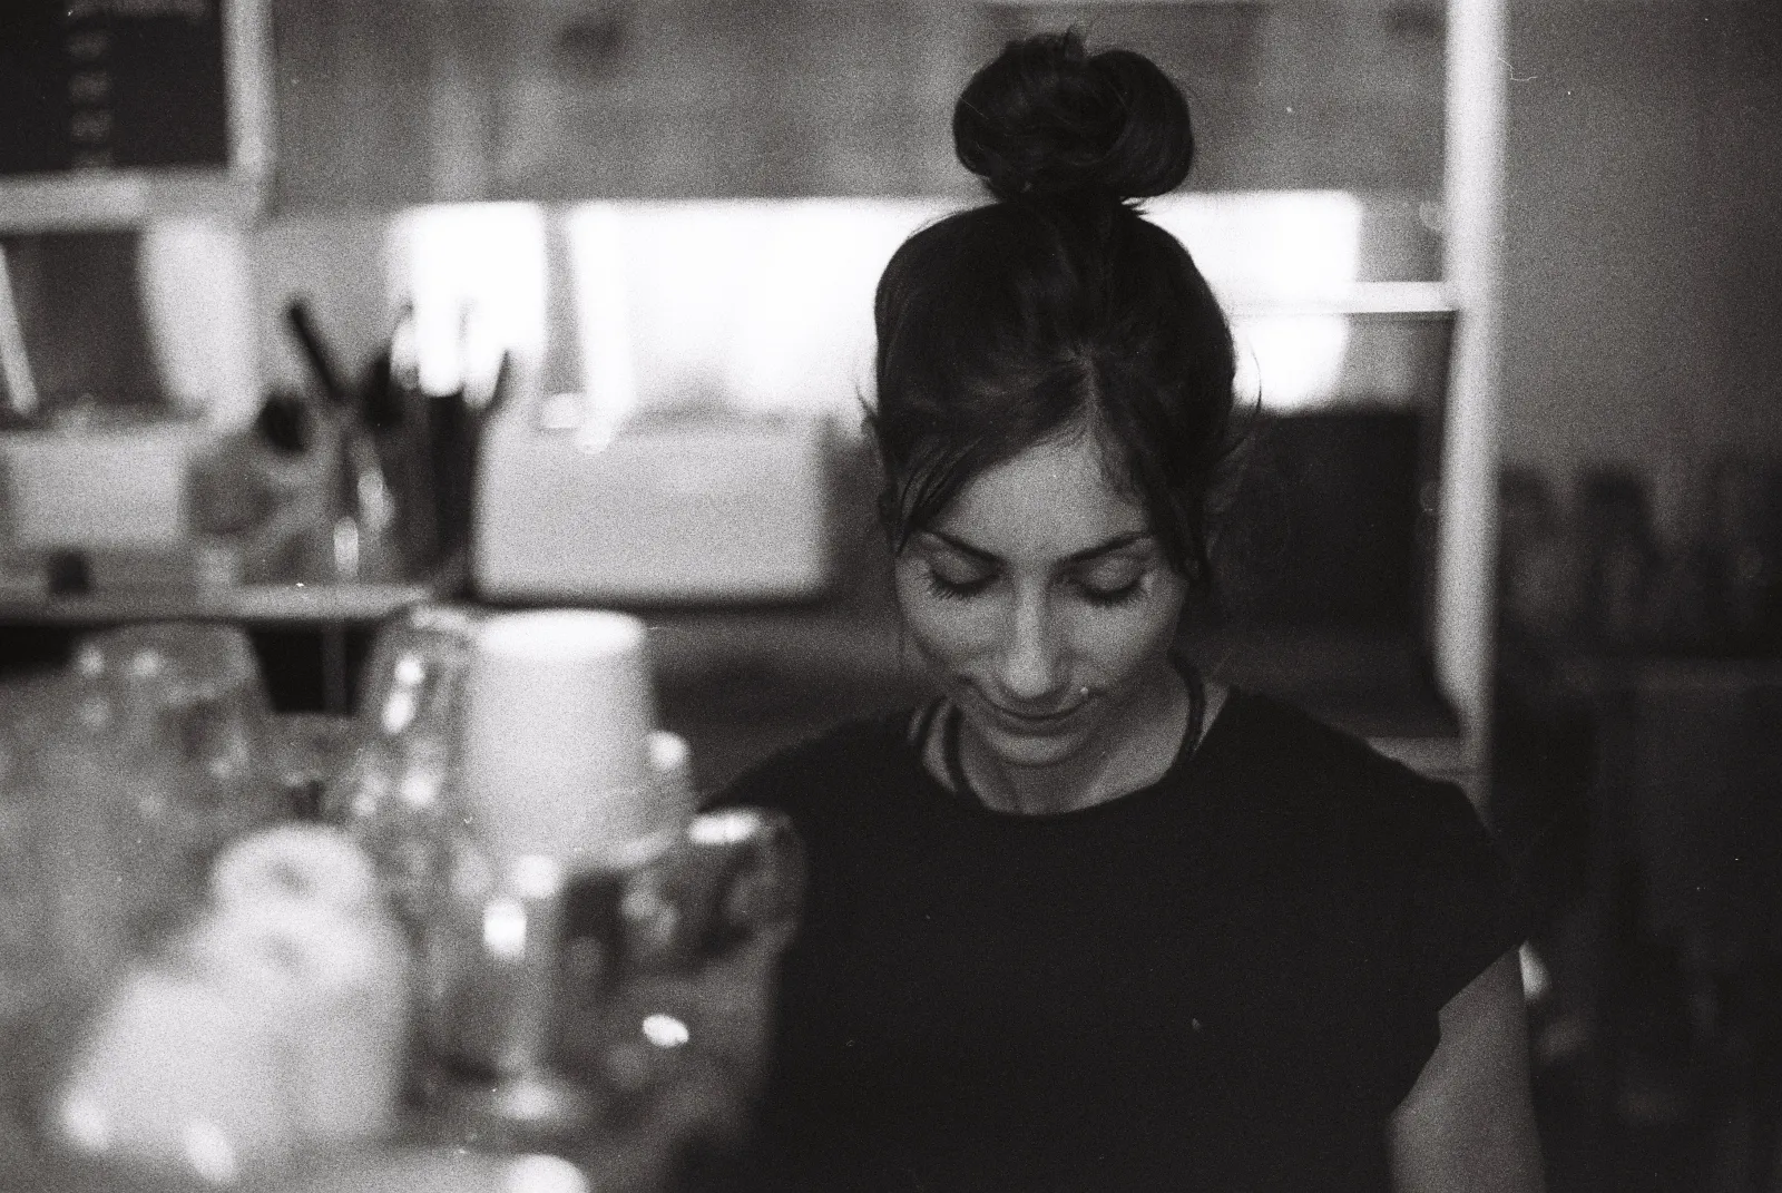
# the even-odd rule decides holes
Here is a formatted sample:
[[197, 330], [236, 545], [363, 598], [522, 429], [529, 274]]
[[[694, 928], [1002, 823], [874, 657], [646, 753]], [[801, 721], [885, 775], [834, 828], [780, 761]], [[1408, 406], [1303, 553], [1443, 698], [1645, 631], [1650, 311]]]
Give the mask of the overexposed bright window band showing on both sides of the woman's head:
[[[576, 301], [583, 430], [609, 435], [634, 412], [832, 412], [855, 426], [871, 398], [871, 300], [902, 241], [952, 200], [688, 200], [583, 203], [565, 216]], [[1320, 401], [1349, 348], [1340, 314], [1269, 310], [1351, 292], [1361, 202], [1344, 191], [1181, 194], [1148, 214], [1194, 253], [1233, 312], [1240, 389], [1271, 408]], [[451, 294], [513, 292], [510, 335], [544, 335], [536, 209], [429, 209], [428, 269]], [[483, 223], [474, 223], [483, 221]], [[465, 244], [476, 241], [476, 248]], [[446, 250], [446, 244], [458, 248]], [[499, 260], [497, 260], [499, 259]], [[524, 291], [524, 296], [520, 296]], [[429, 307], [435, 350], [451, 300]], [[460, 303], [463, 300], [460, 298]], [[444, 314], [438, 314], [444, 310]], [[419, 314], [419, 312], [417, 312]], [[524, 323], [524, 328], [520, 328]], [[592, 417], [590, 417], [592, 415]]]

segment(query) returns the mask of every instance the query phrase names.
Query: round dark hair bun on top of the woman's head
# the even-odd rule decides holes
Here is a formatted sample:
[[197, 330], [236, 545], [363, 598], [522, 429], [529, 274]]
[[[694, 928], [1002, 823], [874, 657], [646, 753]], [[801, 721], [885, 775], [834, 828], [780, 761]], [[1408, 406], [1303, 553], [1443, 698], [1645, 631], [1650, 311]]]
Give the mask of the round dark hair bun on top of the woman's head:
[[1076, 30], [1010, 41], [953, 107], [953, 148], [1000, 200], [1165, 194], [1194, 164], [1189, 102], [1142, 53]]

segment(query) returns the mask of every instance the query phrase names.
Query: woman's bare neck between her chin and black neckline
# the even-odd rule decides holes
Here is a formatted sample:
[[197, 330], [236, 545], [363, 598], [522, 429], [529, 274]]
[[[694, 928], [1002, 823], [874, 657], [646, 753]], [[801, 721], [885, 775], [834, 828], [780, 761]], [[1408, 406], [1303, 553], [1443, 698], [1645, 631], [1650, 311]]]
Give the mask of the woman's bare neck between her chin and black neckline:
[[1092, 808], [1164, 778], [1189, 731], [1189, 692], [1167, 662], [1119, 706], [1101, 733], [1069, 758], [1019, 767], [996, 758], [966, 720], [960, 763], [971, 790], [996, 811], [1055, 815]]

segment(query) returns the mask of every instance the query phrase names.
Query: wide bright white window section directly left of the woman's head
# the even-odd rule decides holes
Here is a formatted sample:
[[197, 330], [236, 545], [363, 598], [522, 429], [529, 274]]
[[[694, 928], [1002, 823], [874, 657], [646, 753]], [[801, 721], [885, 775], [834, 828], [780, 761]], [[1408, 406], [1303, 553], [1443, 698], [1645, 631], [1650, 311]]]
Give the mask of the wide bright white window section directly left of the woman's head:
[[[568, 214], [590, 408], [852, 410], [873, 287], [948, 203], [693, 200]], [[622, 417], [618, 414], [617, 417]]]

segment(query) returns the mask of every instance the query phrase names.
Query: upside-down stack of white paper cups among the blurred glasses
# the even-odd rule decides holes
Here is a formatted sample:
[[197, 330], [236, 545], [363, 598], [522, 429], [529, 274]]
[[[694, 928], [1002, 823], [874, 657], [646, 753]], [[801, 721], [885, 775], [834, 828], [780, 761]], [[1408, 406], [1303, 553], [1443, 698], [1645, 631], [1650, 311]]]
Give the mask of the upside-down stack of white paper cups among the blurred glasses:
[[490, 617], [463, 706], [470, 829], [497, 861], [652, 856], [691, 815], [686, 785], [658, 779], [654, 728], [643, 622], [592, 610]]

